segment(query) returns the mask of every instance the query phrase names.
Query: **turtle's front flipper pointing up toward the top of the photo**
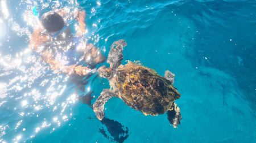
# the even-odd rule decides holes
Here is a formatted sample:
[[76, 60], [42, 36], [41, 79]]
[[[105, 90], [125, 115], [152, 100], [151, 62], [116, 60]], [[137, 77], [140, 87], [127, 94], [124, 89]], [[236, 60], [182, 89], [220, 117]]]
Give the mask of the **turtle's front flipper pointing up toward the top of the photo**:
[[110, 68], [116, 69], [123, 59], [123, 47], [127, 44], [123, 40], [115, 41], [109, 51], [109, 57], [107, 63], [110, 64]]

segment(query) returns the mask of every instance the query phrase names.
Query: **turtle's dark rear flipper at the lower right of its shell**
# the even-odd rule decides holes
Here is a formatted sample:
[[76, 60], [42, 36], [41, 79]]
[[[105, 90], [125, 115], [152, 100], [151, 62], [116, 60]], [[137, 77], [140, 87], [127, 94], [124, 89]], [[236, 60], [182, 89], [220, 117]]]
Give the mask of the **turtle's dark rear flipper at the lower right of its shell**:
[[177, 127], [178, 124], [180, 124], [180, 120], [182, 119], [180, 114], [180, 108], [174, 103], [170, 110], [167, 111], [167, 116], [169, 122], [174, 126], [174, 128]]

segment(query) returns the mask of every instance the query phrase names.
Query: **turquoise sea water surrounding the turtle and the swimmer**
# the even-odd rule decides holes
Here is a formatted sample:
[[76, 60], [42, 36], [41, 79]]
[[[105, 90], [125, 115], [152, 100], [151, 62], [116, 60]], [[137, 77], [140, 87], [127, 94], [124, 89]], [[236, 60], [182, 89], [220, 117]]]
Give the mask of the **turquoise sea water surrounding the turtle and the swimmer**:
[[[256, 1], [0, 5], [0, 142], [256, 142]], [[28, 50], [35, 6], [39, 14], [80, 6], [84, 38], [104, 55], [124, 39], [123, 64], [140, 60], [160, 75], [175, 73], [181, 124], [173, 128], [166, 114], [144, 116], [118, 98], [106, 103], [106, 120], [97, 120], [75, 97], [98, 97], [108, 81], [55, 73]]]

